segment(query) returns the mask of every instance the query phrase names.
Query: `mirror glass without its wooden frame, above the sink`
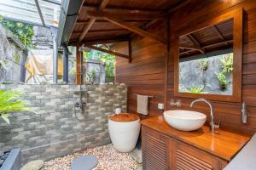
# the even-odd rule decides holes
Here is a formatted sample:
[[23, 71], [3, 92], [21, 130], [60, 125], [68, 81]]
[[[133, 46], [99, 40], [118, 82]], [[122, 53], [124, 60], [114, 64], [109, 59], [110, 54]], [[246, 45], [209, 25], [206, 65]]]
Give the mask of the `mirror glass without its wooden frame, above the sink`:
[[234, 20], [179, 37], [180, 93], [232, 95]]

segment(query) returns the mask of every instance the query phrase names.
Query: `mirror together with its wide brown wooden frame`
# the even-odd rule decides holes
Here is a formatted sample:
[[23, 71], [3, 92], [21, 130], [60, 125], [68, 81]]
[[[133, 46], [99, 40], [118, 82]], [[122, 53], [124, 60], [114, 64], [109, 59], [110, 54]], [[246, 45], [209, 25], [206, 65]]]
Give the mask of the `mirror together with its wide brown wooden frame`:
[[179, 31], [171, 48], [175, 96], [241, 101], [241, 15], [231, 11]]

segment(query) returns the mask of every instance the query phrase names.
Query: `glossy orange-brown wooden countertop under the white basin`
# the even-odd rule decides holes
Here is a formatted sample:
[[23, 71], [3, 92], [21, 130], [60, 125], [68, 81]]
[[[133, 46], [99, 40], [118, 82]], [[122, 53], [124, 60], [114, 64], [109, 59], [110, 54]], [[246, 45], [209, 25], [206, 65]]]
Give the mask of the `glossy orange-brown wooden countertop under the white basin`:
[[205, 150], [225, 161], [230, 161], [241, 148], [247, 144], [250, 137], [217, 129], [218, 133], [209, 133], [209, 127], [203, 126], [193, 132], [183, 132], [169, 126], [163, 116], [148, 118], [141, 121], [145, 127], [182, 141], [183, 143]]

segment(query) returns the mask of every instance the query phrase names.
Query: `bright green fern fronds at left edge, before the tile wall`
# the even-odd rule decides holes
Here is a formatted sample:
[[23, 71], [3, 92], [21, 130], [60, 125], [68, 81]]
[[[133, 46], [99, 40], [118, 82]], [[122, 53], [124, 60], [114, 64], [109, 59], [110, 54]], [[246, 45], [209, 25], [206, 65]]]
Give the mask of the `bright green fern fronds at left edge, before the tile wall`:
[[[19, 111], [32, 111], [25, 107], [26, 103], [20, 98], [22, 92], [18, 90], [0, 89], [0, 116], [9, 123], [9, 113]], [[32, 111], [36, 113], [35, 111]]]

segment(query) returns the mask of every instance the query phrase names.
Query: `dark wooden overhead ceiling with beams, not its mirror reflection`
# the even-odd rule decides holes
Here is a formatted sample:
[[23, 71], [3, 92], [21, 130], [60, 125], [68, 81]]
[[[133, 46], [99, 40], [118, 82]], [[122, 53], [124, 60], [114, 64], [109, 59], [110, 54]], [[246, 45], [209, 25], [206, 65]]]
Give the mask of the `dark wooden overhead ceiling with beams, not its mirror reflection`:
[[132, 32], [165, 43], [144, 31], [189, 0], [84, 0], [69, 43], [127, 39]]

